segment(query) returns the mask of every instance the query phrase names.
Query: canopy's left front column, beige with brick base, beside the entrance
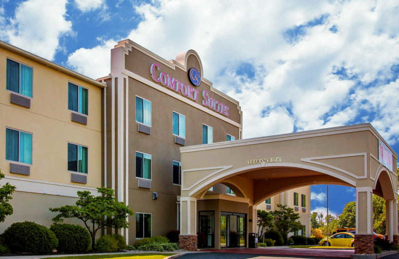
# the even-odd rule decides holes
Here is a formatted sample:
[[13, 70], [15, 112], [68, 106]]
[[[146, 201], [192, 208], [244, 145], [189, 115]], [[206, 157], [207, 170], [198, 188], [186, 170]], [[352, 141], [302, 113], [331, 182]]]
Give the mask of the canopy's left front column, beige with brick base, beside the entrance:
[[180, 197], [180, 249], [197, 251], [197, 199]]

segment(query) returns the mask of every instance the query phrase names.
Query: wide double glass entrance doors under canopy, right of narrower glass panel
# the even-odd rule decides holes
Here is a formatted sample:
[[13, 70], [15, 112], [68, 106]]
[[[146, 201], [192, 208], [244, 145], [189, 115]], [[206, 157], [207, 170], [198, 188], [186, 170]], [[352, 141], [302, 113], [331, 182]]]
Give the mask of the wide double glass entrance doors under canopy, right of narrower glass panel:
[[245, 247], [245, 214], [226, 213], [220, 215], [220, 247]]

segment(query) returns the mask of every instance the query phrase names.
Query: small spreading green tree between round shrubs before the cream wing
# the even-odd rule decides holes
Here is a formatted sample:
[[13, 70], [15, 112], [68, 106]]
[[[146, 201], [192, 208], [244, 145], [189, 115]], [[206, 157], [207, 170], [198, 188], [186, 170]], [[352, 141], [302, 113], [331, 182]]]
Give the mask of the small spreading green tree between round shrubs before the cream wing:
[[79, 199], [75, 206], [65, 205], [60, 208], [49, 208], [52, 212], [59, 212], [53, 218], [55, 223], [61, 223], [64, 219], [77, 218], [83, 221], [91, 236], [91, 248], [94, 248], [96, 233], [104, 227], [127, 228], [127, 215], [133, 215], [133, 211], [123, 202], [114, 197], [114, 190], [109, 188], [97, 188], [100, 196], [91, 195], [89, 191], [78, 191]]

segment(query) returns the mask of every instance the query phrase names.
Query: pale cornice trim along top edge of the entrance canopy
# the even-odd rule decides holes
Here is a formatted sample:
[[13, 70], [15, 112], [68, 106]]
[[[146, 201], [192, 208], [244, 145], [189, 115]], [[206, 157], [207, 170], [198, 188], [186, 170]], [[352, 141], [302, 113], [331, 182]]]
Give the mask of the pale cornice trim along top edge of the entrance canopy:
[[232, 140], [232, 141], [223, 141], [223, 142], [216, 142], [216, 143], [211, 143], [211, 144], [201, 144], [201, 145], [193, 145], [193, 146], [184, 146], [180, 148], [181, 153], [185, 152], [194, 152], [194, 151], [200, 151], [203, 149], [216, 149], [216, 148], [223, 148], [223, 147], [231, 147], [231, 146], [240, 146], [244, 144], [255, 144], [255, 143], [261, 143], [261, 142], [270, 142], [270, 141], [281, 141], [285, 140], [285, 138], [288, 137], [297, 137], [297, 138], [306, 138], [306, 137], [312, 137], [314, 134], [323, 134], [327, 132], [334, 132], [337, 131], [339, 133], [340, 131], [360, 131], [360, 130], [370, 130], [372, 131], [377, 138], [380, 138], [387, 146], [390, 148], [394, 156], [398, 159], [398, 154], [392, 149], [392, 147], [385, 141], [385, 139], [378, 133], [376, 129], [370, 124], [370, 123], [364, 123], [364, 124], [355, 124], [355, 125], [349, 125], [349, 126], [339, 126], [339, 127], [333, 127], [333, 128], [325, 128], [325, 129], [313, 129], [313, 130], [306, 130], [306, 131], [298, 131], [298, 132], [293, 132], [293, 133], [285, 133], [285, 134], [279, 134], [279, 135], [271, 135], [271, 136], [262, 136], [262, 137], [253, 137], [253, 138], [244, 138], [244, 139], [238, 139], [238, 140]]

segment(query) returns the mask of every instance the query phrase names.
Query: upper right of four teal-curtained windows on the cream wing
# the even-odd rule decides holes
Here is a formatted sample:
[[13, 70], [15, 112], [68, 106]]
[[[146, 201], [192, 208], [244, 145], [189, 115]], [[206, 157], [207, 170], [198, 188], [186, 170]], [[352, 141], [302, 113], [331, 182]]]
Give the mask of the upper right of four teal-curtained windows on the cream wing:
[[88, 94], [86, 88], [68, 83], [68, 109], [88, 115]]

